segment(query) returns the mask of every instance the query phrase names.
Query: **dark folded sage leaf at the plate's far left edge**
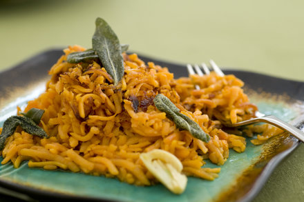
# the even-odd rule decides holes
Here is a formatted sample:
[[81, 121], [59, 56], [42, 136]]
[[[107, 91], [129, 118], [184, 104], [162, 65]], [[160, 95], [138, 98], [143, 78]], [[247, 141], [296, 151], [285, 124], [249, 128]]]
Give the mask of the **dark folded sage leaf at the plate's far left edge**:
[[2, 132], [0, 134], [0, 150], [3, 150], [6, 139], [14, 134], [17, 126], [20, 125], [22, 130], [29, 134], [36, 135], [41, 138], [48, 138], [48, 134], [40, 128], [32, 119], [28, 117], [12, 116], [3, 123]]

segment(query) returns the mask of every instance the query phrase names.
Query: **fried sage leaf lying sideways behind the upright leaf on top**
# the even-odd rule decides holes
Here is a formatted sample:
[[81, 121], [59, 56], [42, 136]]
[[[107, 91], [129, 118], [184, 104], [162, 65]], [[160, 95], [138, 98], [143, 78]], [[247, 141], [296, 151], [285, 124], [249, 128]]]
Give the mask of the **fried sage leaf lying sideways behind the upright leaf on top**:
[[[122, 49], [122, 52], [126, 52], [126, 50], [129, 48], [129, 44], [120, 44], [120, 48]], [[81, 52], [72, 52], [68, 54], [68, 58], [66, 59], [68, 63], [88, 63], [98, 60], [99, 57], [93, 49], [88, 49]]]

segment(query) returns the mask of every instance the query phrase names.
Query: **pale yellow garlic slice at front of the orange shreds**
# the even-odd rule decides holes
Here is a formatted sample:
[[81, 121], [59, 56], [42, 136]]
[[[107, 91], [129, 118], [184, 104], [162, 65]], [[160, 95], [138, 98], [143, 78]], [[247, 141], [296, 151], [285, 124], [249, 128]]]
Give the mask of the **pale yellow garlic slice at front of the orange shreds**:
[[152, 150], [140, 154], [146, 168], [171, 192], [182, 194], [187, 176], [182, 174], [182, 163], [176, 156], [164, 150]]

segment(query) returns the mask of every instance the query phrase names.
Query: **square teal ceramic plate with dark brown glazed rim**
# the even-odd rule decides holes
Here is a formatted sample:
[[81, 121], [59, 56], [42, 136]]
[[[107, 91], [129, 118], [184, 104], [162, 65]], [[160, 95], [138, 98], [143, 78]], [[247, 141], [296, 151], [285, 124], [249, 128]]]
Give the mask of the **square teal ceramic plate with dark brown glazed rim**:
[[[22, 108], [28, 100], [44, 92], [45, 82], [49, 79], [47, 72], [61, 54], [61, 50], [49, 50], [15, 68], [0, 72], [0, 126], [5, 119], [16, 114], [17, 105]], [[141, 58], [167, 66], [175, 77], [187, 76], [185, 65]], [[261, 112], [274, 114], [302, 127], [301, 96], [304, 94], [304, 83], [238, 70], [225, 70], [225, 74], [235, 74], [245, 81], [245, 90], [251, 102], [256, 103]], [[252, 145], [247, 139], [245, 152], [238, 154], [229, 151], [229, 159], [220, 166], [222, 170], [218, 179], [205, 181], [189, 177], [187, 189], [181, 195], [172, 194], [161, 184], [138, 187], [103, 176], [28, 168], [27, 162], [23, 162], [18, 169], [13, 168], [12, 164], [0, 165], [0, 185], [41, 200], [251, 201], [276, 165], [298, 143], [297, 139], [286, 133], [258, 146]], [[210, 162], [205, 166], [218, 167]]]

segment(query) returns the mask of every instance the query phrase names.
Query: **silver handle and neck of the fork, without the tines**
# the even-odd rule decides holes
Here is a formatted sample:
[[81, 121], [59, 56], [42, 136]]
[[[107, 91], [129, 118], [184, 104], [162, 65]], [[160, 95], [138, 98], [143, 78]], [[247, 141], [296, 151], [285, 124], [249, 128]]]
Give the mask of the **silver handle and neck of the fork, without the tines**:
[[292, 136], [294, 136], [297, 139], [304, 142], [304, 132], [303, 131], [294, 127], [294, 125], [291, 125], [285, 121], [282, 121], [281, 119], [278, 119], [278, 117], [274, 117], [272, 115], [266, 116], [266, 117], [258, 117], [258, 118], [234, 123], [234, 126], [248, 125], [251, 123], [258, 123], [258, 122], [264, 122], [264, 123], [269, 123], [271, 125], [275, 125], [276, 127], [281, 128], [282, 130], [285, 130], [286, 132], [289, 132], [290, 134], [292, 134]]

